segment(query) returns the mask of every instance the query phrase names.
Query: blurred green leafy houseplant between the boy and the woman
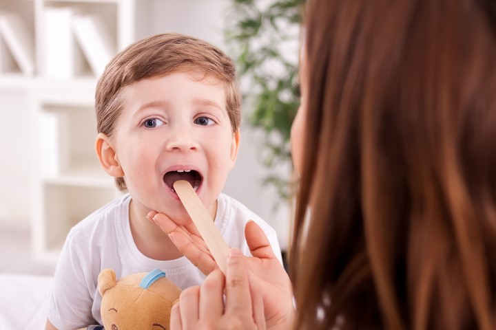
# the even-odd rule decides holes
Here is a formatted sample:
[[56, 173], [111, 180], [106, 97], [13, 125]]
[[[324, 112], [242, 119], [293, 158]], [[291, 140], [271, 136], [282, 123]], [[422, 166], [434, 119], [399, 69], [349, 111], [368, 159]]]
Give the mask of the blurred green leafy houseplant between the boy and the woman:
[[[302, 0], [233, 0], [225, 25], [230, 55], [243, 85], [248, 122], [264, 134], [264, 184], [281, 201], [291, 196], [289, 133], [299, 106], [298, 47]], [[247, 105], [248, 104], [248, 105]], [[247, 106], [246, 106], [247, 105]], [[291, 167], [292, 168], [292, 167]]]

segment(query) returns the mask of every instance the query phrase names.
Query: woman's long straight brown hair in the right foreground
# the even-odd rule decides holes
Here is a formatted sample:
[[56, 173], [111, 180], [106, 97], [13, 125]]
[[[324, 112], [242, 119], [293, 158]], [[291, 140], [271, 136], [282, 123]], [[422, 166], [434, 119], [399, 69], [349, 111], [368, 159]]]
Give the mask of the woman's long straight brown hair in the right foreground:
[[296, 329], [496, 329], [495, 20], [309, 0]]

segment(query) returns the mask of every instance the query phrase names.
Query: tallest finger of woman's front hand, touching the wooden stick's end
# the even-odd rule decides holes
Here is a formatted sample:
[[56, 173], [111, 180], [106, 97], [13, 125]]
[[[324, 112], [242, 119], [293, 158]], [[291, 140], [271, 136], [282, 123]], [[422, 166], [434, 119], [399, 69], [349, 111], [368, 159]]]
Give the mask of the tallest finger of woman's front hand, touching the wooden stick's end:
[[251, 296], [245, 256], [238, 249], [231, 249], [226, 263], [226, 314], [249, 314]]

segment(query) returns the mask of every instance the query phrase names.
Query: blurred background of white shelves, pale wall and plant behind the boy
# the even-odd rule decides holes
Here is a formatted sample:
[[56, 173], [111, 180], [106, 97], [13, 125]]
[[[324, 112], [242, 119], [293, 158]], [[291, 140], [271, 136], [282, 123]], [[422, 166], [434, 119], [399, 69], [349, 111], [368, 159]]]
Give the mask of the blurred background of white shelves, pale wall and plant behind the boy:
[[298, 1], [0, 0], [0, 273], [52, 275], [68, 230], [117, 196], [94, 155], [94, 87], [130, 43], [162, 32], [234, 58], [242, 138], [224, 192], [287, 248]]

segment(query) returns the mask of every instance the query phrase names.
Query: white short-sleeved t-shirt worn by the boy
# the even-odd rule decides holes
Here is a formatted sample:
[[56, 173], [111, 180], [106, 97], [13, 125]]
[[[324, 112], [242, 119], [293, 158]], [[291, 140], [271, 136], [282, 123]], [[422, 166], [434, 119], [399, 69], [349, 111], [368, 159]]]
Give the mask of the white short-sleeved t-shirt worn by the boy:
[[[50, 296], [48, 319], [59, 330], [79, 329], [102, 324], [98, 276], [112, 268], [116, 278], [156, 268], [167, 274], [181, 289], [200, 285], [204, 279], [185, 256], [157, 261], [144, 256], [132, 238], [129, 194], [96, 210], [72, 228], [56, 265], [54, 289]], [[282, 263], [276, 231], [236, 199], [220, 194], [215, 224], [227, 244], [250, 255], [245, 240], [245, 224], [254, 220], [269, 239], [273, 252]]]

